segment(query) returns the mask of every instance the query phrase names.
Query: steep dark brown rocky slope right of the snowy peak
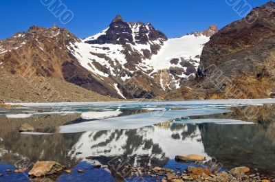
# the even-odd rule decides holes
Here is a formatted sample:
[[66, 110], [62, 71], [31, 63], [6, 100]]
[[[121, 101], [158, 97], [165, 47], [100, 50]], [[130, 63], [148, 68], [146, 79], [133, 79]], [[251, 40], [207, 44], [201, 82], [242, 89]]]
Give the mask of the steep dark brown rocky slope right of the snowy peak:
[[197, 85], [208, 98], [214, 93], [217, 98], [268, 98], [275, 89], [274, 68], [275, 3], [270, 1], [210, 38], [201, 54]]

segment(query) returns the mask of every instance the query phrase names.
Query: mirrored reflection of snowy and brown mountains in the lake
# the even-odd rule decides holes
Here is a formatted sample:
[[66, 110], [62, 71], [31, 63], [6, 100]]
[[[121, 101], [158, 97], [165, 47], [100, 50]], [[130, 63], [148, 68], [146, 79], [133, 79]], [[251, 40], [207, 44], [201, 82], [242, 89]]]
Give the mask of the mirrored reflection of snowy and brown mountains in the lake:
[[[175, 155], [197, 154], [215, 157], [223, 168], [248, 166], [273, 174], [275, 168], [274, 106], [249, 106], [254, 115], [245, 117], [242, 109], [190, 119], [242, 120], [255, 124], [186, 124], [184, 117], [135, 129], [58, 133], [58, 126], [87, 122], [80, 113], [39, 115], [29, 118], [0, 117], [0, 160], [14, 165], [23, 157], [35, 161], [58, 161], [69, 168], [98, 163], [106, 165], [113, 157], [124, 157], [133, 166], [167, 166]], [[224, 107], [223, 107], [224, 109]], [[122, 110], [123, 112], [123, 110]], [[126, 109], [122, 115], [146, 113]], [[3, 112], [2, 112], [3, 113]], [[256, 113], [256, 114], [255, 114]], [[28, 123], [38, 131], [53, 135], [22, 135], [17, 128]], [[1, 163], [0, 163], [1, 166]], [[0, 168], [0, 173], [2, 168]], [[66, 177], [61, 176], [66, 181]], [[63, 181], [63, 180], [62, 180]]]

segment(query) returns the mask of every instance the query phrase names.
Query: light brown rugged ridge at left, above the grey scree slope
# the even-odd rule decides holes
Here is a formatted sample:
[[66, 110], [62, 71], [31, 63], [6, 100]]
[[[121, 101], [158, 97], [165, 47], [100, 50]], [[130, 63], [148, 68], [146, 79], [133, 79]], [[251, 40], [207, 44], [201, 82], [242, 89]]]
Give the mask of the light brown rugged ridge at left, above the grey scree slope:
[[63, 61], [72, 60], [67, 43], [75, 41], [78, 41], [76, 36], [55, 25], [30, 27], [28, 32], [1, 41], [0, 71], [24, 74], [29, 67], [36, 76], [62, 78]]

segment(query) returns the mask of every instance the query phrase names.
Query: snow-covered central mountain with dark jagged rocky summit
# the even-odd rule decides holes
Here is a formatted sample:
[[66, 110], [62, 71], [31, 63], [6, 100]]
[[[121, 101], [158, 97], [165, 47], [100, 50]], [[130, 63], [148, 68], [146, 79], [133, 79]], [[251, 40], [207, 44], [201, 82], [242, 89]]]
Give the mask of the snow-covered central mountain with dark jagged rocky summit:
[[121, 98], [151, 98], [195, 78], [203, 45], [216, 29], [168, 39], [151, 23], [125, 22], [117, 15], [105, 30], [68, 49]]

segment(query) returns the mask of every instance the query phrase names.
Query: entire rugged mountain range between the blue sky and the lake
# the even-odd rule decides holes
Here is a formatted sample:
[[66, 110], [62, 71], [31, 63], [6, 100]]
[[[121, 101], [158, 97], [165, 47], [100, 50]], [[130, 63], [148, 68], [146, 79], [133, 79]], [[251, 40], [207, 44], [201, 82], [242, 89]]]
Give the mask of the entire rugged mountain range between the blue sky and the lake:
[[[275, 67], [274, 9], [270, 1], [248, 14], [260, 15], [252, 24], [242, 19], [219, 31], [211, 25], [179, 38], [167, 38], [151, 23], [125, 22], [119, 15], [105, 30], [84, 39], [56, 25], [33, 26], [0, 41], [0, 73], [6, 79], [59, 79], [119, 99], [234, 98], [225, 94], [234, 82], [238, 89], [253, 90], [243, 91], [243, 98], [267, 98]], [[230, 81], [211, 82], [216, 69]], [[270, 89], [263, 91], [267, 85]], [[64, 91], [70, 92], [65, 84]]]

